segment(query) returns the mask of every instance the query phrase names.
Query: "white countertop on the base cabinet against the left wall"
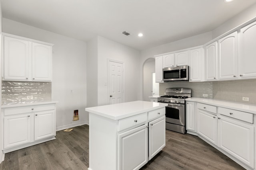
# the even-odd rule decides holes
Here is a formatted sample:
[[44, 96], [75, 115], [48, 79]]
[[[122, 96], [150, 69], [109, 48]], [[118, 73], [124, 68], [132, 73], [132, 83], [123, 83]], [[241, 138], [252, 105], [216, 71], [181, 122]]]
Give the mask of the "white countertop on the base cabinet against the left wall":
[[40, 101], [31, 101], [31, 102], [24, 102], [24, 103], [8, 103], [1, 106], [1, 108], [9, 108], [9, 107], [22, 107], [22, 106], [34, 106], [34, 105], [41, 105], [41, 104], [55, 104], [58, 101], [53, 100], [40, 100]]

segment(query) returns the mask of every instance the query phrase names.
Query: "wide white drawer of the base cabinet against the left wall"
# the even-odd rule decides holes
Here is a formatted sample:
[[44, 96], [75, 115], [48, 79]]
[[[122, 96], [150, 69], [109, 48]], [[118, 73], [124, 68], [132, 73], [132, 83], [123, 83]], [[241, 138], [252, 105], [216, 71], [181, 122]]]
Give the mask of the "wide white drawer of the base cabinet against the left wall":
[[54, 104], [46, 104], [46, 105], [34, 105], [34, 106], [23, 106], [23, 107], [11, 107], [4, 109], [4, 115], [16, 115], [21, 113], [33, 113], [38, 111], [45, 110], [54, 110]]

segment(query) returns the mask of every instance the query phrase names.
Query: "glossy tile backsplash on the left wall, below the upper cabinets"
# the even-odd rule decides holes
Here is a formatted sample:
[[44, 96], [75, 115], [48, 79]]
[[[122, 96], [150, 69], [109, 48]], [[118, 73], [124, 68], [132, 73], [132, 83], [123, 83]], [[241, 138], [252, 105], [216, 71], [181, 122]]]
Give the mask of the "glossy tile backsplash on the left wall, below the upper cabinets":
[[52, 99], [52, 82], [2, 81], [2, 105]]

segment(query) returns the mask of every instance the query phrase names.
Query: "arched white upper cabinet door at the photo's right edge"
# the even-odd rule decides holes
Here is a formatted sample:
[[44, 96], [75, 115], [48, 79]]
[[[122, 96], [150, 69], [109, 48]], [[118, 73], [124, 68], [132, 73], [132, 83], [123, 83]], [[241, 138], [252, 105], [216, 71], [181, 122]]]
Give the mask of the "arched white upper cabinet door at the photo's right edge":
[[256, 22], [243, 27], [240, 35], [239, 76], [241, 78], [256, 78]]

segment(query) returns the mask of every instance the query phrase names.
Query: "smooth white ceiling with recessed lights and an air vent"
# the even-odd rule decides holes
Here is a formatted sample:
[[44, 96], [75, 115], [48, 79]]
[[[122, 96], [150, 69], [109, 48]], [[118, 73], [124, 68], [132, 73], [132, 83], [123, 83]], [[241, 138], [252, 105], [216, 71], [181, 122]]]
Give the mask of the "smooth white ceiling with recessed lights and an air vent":
[[[254, 3], [256, 0], [1, 0], [4, 18], [82, 41], [100, 35], [138, 50], [212, 31]], [[140, 32], [143, 37], [138, 37]]]

